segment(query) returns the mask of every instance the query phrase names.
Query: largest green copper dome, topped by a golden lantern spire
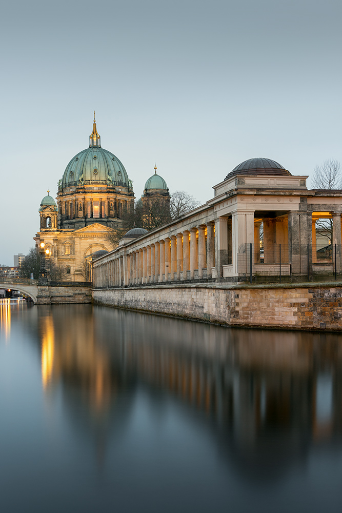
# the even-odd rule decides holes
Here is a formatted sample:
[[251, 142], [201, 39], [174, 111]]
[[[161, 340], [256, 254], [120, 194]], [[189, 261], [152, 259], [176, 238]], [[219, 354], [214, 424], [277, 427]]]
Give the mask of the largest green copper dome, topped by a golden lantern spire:
[[94, 120], [89, 148], [80, 151], [67, 165], [61, 187], [115, 185], [129, 188], [126, 169], [110, 151], [101, 148]]

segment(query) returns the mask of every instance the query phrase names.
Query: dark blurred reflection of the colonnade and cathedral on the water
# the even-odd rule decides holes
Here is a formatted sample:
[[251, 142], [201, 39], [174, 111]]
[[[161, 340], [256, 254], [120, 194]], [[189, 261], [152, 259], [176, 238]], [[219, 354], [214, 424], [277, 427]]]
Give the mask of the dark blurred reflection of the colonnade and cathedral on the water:
[[39, 329], [43, 386], [63, 382], [81, 429], [89, 419], [113, 429], [144, 386], [202, 416], [221, 457], [254, 480], [276, 479], [312, 444], [340, 443], [336, 334], [229, 330], [90, 306], [41, 308]]

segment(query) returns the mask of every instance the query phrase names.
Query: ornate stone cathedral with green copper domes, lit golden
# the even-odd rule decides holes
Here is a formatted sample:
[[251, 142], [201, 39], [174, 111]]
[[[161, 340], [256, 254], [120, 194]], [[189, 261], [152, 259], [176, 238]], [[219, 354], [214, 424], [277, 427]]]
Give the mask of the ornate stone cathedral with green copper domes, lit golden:
[[[158, 196], [169, 207], [168, 186], [154, 170], [141, 200], [146, 204]], [[120, 227], [123, 213], [134, 209], [135, 200], [124, 165], [101, 147], [95, 113], [89, 147], [67, 165], [58, 181], [57, 203], [49, 193], [39, 208], [36, 247], [45, 244], [47, 266], [61, 270], [64, 280], [87, 281], [89, 258], [112, 249], [108, 233]]]

